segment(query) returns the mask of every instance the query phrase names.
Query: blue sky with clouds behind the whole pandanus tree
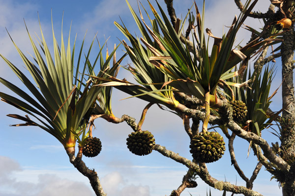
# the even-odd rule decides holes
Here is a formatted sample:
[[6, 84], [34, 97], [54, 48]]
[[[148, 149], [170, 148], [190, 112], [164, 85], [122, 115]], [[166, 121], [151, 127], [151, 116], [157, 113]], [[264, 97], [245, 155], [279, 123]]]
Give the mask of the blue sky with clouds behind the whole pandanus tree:
[[[154, 0], [151, 2], [155, 5]], [[214, 1], [207, 0], [206, 27], [210, 28], [215, 36], [222, 36], [224, 25], [229, 26], [238, 9], [233, 0]], [[255, 10], [265, 11], [268, 0], [260, 0]], [[130, 0], [134, 9], [137, 10], [136, 0]], [[0, 0], [0, 53], [12, 61], [18, 68], [23, 68], [20, 57], [9, 39], [5, 27], [9, 31], [15, 43], [23, 50], [30, 52], [30, 44], [27, 36], [24, 19], [31, 34], [39, 34], [38, 15], [41, 26], [45, 33], [47, 42], [52, 39], [51, 10], [56, 35], [59, 35], [61, 19], [63, 14], [64, 34], [68, 33], [72, 22], [71, 37], [77, 33], [77, 42], [81, 42], [87, 30], [86, 46], [97, 33], [98, 40], [103, 43], [106, 38], [108, 47], [112, 49], [114, 44], [124, 39], [123, 35], [114, 25], [120, 18], [131, 32], [137, 32], [137, 27], [127, 4], [123, 0]], [[148, 8], [146, 0], [143, 4]], [[160, 4], [163, 5], [162, 0]], [[184, 16], [187, 9], [192, 5], [191, 0], [175, 0], [177, 16]], [[266, 6], [265, 6], [266, 5]], [[200, 8], [202, 5], [199, 5]], [[245, 22], [252, 27], [261, 27], [259, 22], [248, 20]], [[58, 36], [57, 36], [58, 37]], [[241, 30], [237, 35], [237, 43], [245, 39], [249, 33]], [[96, 46], [97, 47], [97, 46]], [[118, 49], [122, 54], [123, 48]], [[94, 51], [94, 50], [93, 50]], [[92, 51], [92, 52], [93, 52]], [[93, 52], [95, 54], [95, 51]], [[122, 63], [131, 63], [128, 58]], [[280, 78], [280, 61], [277, 61], [277, 77]], [[126, 77], [132, 80], [129, 73], [122, 72], [119, 78]], [[13, 81], [22, 87], [17, 78], [0, 60], [0, 76]], [[279, 81], [279, 79], [277, 80]], [[278, 88], [280, 82], [275, 82], [272, 89]], [[277, 86], [275, 86], [277, 85]], [[2, 85], [0, 90], [8, 92]], [[273, 98], [271, 107], [278, 110], [280, 93]], [[137, 120], [145, 105], [144, 101], [136, 98], [120, 100], [128, 95], [114, 90], [112, 108], [116, 116], [128, 114]], [[132, 107], [130, 107], [132, 105]], [[17, 120], [6, 117], [6, 114], [23, 114], [17, 109], [0, 102], [0, 195], [1, 196], [93, 196], [88, 179], [79, 173], [68, 160], [62, 145], [50, 134], [36, 127], [10, 127], [10, 124], [20, 123]], [[103, 119], [95, 122], [96, 129], [93, 135], [102, 141], [102, 151], [94, 158], [84, 157], [89, 168], [94, 168], [102, 186], [108, 196], [164, 196], [169, 195], [172, 190], [177, 189], [187, 168], [163, 157], [154, 151], [148, 156], [136, 156], [129, 152], [126, 147], [126, 138], [132, 131], [126, 123], [111, 124]], [[173, 150], [180, 155], [191, 159], [189, 153], [189, 138], [185, 134], [180, 118], [172, 113], [162, 111], [156, 106], [148, 110], [143, 129], [153, 133], [156, 143]], [[269, 142], [276, 138], [266, 130], [263, 137]], [[227, 142], [227, 140], [226, 140]], [[240, 167], [247, 177], [253, 172], [257, 164], [256, 158], [250, 153], [247, 158], [248, 143], [243, 140], [235, 141], [236, 157]], [[226, 152], [224, 157], [207, 165], [211, 175], [219, 180], [226, 180], [237, 185], [245, 186], [238, 177], [233, 166], [230, 166], [230, 156]], [[187, 189], [182, 196], [204, 196], [208, 186], [197, 179], [198, 187]], [[261, 171], [254, 183], [254, 190], [263, 195], [281, 195], [279, 185], [274, 180], [270, 181], [268, 172]], [[220, 194], [211, 188], [214, 195]]]

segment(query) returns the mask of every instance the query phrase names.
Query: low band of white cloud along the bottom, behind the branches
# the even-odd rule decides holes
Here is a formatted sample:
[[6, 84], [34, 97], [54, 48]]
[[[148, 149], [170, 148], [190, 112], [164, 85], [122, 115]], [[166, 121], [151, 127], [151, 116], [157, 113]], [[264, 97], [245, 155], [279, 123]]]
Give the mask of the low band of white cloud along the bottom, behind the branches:
[[[22, 168], [16, 161], [3, 156], [0, 156], [0, 164], [0, 180], [5, 179], [5, 182], [7, 182], [6, 184], [1, 183], [1, 196], [94, 195], [88, 179], [75, 171], [75, 169], [52, 168], [52, 170], [42, 170], [42, 168]], [[163, 162], [163, 164], [168, 165], [168, 167], [152, 167], [146, 164], [132, 165], [129, 163], [131, 170], [128, 169], [128, 165], [125, 165], [125, 168], [118, 168], [119, 165], [114, 167], [107, 164], [108, 169], [100, 170], [98, 175], [108, 196], [163, 196], [170, 194], [173, 189], [177, 189], [187, 171], [184, 166], [182, 168], [170, 167], [169, 160]], [[212, 168], [208, 169], [212, 170]], [[222, 174], [215, 177], [224, 180]], [[225, 177], [228, 181], [236, 183], [235, 174], [227, 173]], [[262, 183], [266, 180], [267, 185]], [[278, 183], [275, 181], [268, 182], [268, 180], [269, 178], [258, 177], [254, 190], [267, 196], [279, 195], [281, 190], [276, 188]], [[196, 181], [198, 187], [186, 189], [182, 194], [183, 196], [189, 196], [188, 192], [194, 196], [206, 195], [208, 185], [200, 178], [197, 178]], [[238, 180], [237, 185], [244, 185], [244, 182]], [[220, 194], [219, 191], [213, 188], [211, 188], [211, 192], [213, 195]]]

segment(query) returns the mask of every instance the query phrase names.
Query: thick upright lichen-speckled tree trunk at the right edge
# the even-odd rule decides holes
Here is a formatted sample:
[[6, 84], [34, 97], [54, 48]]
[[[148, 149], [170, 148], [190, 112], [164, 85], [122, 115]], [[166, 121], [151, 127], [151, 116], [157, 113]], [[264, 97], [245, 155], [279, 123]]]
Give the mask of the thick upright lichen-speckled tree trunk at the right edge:
[[295, 98], [293, 86], [293, 57], [294, 57], [294, 30], [288, 29], [283, 35], [282, 44], [282, 101], [283, 101], [283, 121], [281, 133], [281, 148], [283, 159], [290, 164], [291, 170], [285, 173], [282, 183], [283, 196], [295, 196]]

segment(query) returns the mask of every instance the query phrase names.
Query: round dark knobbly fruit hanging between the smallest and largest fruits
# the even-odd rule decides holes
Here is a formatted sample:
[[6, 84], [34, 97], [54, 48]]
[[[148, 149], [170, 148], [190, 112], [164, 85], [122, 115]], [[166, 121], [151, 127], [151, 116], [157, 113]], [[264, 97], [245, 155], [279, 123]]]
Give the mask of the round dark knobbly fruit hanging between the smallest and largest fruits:
[[136, 131], [128, 135], [127, 147], [136, 155], [147, 155], [155, 147], [155, 139], [149, 131]]

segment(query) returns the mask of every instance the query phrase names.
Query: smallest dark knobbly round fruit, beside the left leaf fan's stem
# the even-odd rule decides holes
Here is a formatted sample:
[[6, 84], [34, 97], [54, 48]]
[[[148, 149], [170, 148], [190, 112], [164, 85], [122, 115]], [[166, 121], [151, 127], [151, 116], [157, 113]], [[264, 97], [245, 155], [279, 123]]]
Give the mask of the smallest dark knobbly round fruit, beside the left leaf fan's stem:
[[94, 157], [101, 151], [101, 142], [99, 138], [89, 137], [86, 139], [87, 143], [83, 146], [83, 154], [87, 157]]

